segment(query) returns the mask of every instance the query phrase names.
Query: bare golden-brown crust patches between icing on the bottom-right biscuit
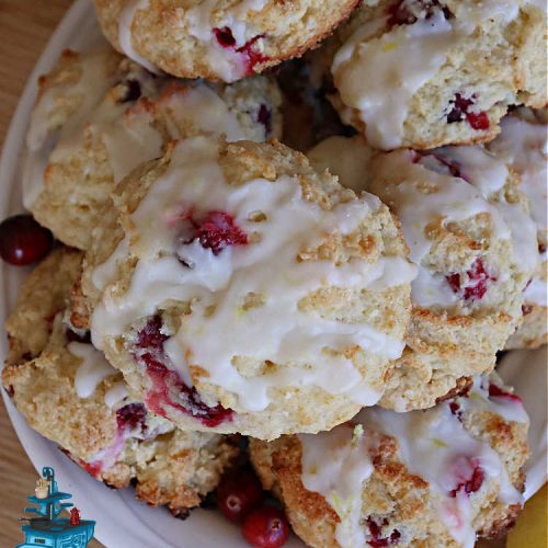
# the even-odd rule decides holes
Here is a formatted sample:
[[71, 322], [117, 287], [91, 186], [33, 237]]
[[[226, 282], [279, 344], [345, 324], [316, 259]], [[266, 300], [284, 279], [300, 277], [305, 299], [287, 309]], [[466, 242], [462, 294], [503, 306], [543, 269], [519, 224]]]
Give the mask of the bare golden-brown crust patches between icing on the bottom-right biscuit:
[[[528, 452], [527, 424], [506, 422], [492, 412], [466, 412], [464, 424], [476, 439], [483, 441], [499, 454], [513, 486], [524, 488], [524, 465]], [[339, 546], [335, 527], [339, 516], [316, 492], [305, 489], [301, 480], [302, 445], [298, 436], [282, 436], [275, 442], [252, 439], [250, 456], [263, 487], [279, 498], [294, 530], [315, 548]], [[435, 510], [435, 490], [423, 478], [410, 472], [399, 452], [398, 441], [377, 434], [369, 445], [374, 471], [362, 488], [362, 526], [372, 517], [385, 523], [384, 533], [397, 530], [398, 546], [457, 547]], [[482, 538], [503, 534], [514, 523], [520, 504], [499, 502], [496, 483], [488, 483], [471, 501], [472, 526]], [[385, 530], [386, 529], [386, 530]]]

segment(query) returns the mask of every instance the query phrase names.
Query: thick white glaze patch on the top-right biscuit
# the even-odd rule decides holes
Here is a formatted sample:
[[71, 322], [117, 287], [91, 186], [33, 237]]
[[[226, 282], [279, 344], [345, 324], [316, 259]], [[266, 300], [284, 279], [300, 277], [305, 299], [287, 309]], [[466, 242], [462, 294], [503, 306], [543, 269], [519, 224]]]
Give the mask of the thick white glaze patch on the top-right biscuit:
[[439, 70], [456, 36], [439, 11], [378, 38], [362, 39], [351, 38], [335, 55], [335, 84], [342, 101], [359, 111], [367, 141], [396, 148], [402, 144], [410, 99]]

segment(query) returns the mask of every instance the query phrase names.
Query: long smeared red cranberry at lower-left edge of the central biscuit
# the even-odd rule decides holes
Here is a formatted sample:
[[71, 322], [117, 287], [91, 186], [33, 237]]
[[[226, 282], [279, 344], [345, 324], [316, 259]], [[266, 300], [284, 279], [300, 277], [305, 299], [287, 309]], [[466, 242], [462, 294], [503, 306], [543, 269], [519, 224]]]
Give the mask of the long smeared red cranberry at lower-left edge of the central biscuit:
[[[146, 396], [146, 403], [157, 414], [165, 415], [165, 407], [172, 407], [199, 420], [205, 426], [214, 427], [232, 419], [233, 411], [220, 403], [207, 406], [195, 387], [186, 386], [178, 373], [167, 367], [169, 358], [163, 352], [168, 335], [161, 333], [162, 319], [152, 316], [137, 333], [135, 358], [146, 366], [152, 388]], [[175, 400], [173, 399], [175, 398]]]

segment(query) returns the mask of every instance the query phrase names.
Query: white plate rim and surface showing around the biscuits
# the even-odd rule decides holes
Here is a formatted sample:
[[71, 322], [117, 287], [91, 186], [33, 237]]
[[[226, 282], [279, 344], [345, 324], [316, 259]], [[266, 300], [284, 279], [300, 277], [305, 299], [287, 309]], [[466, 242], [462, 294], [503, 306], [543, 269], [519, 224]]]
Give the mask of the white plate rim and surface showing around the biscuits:
[[[21, 212], [21, 179], [24, 163], [24, 136], [36, 94], [36, 79], [47, 72], [59, 54], [70, 47], [83, 49], [101, 38], [91, 0], [78, 0], [52, 36], [21, 96], [11, 122], [0, 160], [0, 219]], [[0, 264], [0, 322], [13, 307], [16, 289], [26, 274], [24, 269]], [[0, 336], [0, 357], [5, 356], [5, 336]], [[529, 498], [546, 481], [546, 349], [510, 353], [502, 365], [503, 377], [515, 386], [532, 418], [532, 457], [527, 464]], [[57, 446], [31, 430], [2, 390], [13, 427], [37, 470], [53, 466], [59, 484], [73, 494], [83, 517], [96, 521], [95, 538], [113, 548], [203, 547], [236, 548], [246, 546], [236, 526], [216, 512], [197, 510], [189, 520], [173, 518], [163, 509], [150, 509], [135, 501], [133, 490], [112, 491], [93, 480], [62, 455]], [[28, 486], [31, 490], [33, 486]], [[25, 501], [21, 500], [21, 507]], [[289, 547], [301, 546], [292, 539]]]

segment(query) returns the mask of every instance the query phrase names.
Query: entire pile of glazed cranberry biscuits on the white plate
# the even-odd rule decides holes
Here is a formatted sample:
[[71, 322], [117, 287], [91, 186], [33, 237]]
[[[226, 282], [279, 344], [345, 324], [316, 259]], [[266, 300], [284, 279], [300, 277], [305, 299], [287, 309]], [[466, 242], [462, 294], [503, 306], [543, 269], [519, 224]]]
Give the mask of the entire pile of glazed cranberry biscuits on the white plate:
[[496, 357], [548, 339], [543, 2], [95, 11], [26, 139], [59, 242], [7, 322], [30, 425], [175, 516], [249, 459], [308, 546], [504, 534], [528, 418]]

